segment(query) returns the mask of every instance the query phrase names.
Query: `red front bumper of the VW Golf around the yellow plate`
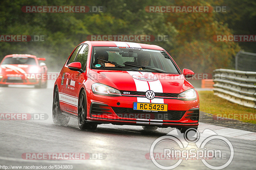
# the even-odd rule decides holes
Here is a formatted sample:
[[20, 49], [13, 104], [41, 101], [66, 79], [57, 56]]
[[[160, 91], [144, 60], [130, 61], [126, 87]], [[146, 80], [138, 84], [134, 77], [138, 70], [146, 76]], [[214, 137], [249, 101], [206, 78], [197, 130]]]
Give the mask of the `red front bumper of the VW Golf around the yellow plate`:
[[164, 99], [167, 112], [133, 110], [136, 97], [109, 97], [93, 94], [87, 90], [87, 120], [117, 125], [140, 125], [157, 127], [197, 127], [199, 100], [182, 101]]

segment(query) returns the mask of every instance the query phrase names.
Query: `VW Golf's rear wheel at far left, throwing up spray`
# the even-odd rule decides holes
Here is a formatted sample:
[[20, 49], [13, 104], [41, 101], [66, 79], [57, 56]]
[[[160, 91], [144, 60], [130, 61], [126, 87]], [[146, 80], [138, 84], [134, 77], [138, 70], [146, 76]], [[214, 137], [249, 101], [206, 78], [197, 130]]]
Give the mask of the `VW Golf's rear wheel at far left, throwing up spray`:
[[52, 120], [56, 125], [66, 126], [69, 122], [69, 119], [70, 117], [65, 116], [61, 113], [60, 101], [59, 101], [59, 90], [56, 87], [53, 93]]

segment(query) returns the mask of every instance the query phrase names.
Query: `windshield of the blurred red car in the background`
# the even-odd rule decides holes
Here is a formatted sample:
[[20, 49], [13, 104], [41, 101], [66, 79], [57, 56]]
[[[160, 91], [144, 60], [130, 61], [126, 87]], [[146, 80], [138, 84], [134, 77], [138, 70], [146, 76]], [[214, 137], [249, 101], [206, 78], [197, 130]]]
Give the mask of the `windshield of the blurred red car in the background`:
[[35, 60], [35, 58], [32, 58], [32, 57], [14, 56], [14, 57], [7, 57], [7, 58], [5, 58], [2, 64], [28, 64], [28, 65], [36, 65], [36, 60]]

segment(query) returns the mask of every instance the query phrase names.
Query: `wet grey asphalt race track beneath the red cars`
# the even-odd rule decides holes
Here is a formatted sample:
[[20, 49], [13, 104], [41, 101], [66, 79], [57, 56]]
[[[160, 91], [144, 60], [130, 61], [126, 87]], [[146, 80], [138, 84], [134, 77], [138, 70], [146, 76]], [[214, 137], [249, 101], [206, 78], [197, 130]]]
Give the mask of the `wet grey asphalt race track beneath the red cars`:
[[[52, 82], [49, 82], [47, 89], [22, 85], [0, 87], [0, 114], [48, 115], [47, 120], [0, 120], [0, 169], [3, 169], [3, 165], [72, 165], [72, 169], [79, 170], [160, 169], [145, 155], [149, 153], [151, 144], [172, 128], [144, 131], [141, 126], [102, 124], [95, 131], [82, 131], [74, 118], [70, 119], [67, 127], [56, 126], [52, 122], [52, 87]], [[234, 147], [234, 159], [225, 169], [255, 169], [256, 141], [228, 140]], [[170, 148], [170, 143], [162, 143], [159, 147]], [[193, 144], [189, 147], [193, 147]], [[227, 148], [218, 142], [213, 142], [211, 147], [220, 150]], [[95, 160], [29, 160], [22, 158], [24, 153], [98, 153], [105, 156], [104, 159]], [[164, 161], [163, 165], [171, 165], [169, 160], [161, 161]], [[218, 161], [213, 164], [217, 165]], [[204, 166], [201, 160], [183, 160], [175, 169], [210, 168]]]

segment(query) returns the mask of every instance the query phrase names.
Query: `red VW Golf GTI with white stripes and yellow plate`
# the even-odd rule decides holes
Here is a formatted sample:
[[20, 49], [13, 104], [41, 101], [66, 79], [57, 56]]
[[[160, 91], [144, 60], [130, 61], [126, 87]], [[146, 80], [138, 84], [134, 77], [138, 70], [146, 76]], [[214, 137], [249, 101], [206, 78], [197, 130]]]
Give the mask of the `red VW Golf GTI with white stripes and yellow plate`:
[[85, 41], [54, 84], [53, 122], [67, 125], [75, 117], [90, 130], [102, 123], [197, 129], [199, 97], [186, 80], [193, 75], [156, 45]]

